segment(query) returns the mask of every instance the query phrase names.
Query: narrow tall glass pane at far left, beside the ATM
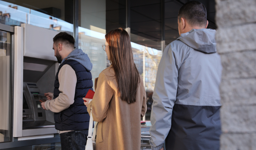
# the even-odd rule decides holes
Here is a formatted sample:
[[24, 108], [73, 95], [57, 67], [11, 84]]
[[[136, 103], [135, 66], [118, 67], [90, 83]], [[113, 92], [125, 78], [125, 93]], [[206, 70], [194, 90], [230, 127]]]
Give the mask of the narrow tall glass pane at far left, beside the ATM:
[[10, 141], [10, 62], [12, 34], [0, 31], [0, 142]]

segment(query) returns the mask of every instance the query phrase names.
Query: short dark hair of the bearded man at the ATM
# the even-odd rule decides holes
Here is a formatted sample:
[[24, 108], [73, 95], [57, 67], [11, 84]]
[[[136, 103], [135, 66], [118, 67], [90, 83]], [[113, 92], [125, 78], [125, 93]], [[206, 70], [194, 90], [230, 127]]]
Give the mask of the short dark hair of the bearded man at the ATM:
[[75, 39], [72, 35], [68, 34], [67, 32], [60, 32], [53, 38], [53, 42], [55, 44], [61, 43], [69, 48], [74, 48], [75, 46]]

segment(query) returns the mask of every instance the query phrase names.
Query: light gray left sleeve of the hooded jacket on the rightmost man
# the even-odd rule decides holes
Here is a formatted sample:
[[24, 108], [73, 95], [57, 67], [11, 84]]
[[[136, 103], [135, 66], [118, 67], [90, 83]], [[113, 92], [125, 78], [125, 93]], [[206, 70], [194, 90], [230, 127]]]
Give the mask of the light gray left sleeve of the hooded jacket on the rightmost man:
[[175, 55], [177, 54], [172, 51], [169, 44], [158, 65], [151, 111], [150, 144], [153, 150], [159, 150], [163, 147], [171, 129], [172, 109], [176, 101], [179, 70]]

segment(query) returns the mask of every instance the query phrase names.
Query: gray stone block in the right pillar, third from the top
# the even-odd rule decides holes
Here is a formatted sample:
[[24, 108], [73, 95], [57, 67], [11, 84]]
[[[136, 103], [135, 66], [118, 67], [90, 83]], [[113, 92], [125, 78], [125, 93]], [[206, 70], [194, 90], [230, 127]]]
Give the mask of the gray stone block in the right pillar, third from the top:
[[224, 80], [256, 77], [256, 51], [222, 54], [221, 61], [222, 79]]

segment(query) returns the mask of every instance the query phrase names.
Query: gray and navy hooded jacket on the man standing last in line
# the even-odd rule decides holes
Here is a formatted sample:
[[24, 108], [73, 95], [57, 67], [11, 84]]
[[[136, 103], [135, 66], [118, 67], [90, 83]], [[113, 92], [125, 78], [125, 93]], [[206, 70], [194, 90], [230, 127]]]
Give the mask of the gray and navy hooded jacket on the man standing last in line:
[[222, 65], [215, 30], [181, 34], [163, 52], [151, 111], [153, 150], [218, 150]]

